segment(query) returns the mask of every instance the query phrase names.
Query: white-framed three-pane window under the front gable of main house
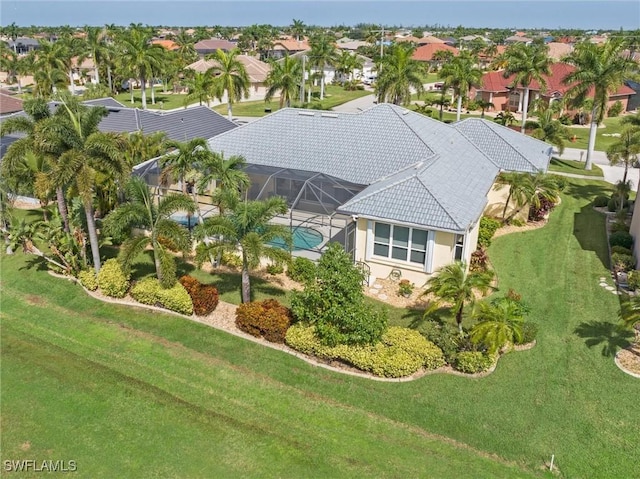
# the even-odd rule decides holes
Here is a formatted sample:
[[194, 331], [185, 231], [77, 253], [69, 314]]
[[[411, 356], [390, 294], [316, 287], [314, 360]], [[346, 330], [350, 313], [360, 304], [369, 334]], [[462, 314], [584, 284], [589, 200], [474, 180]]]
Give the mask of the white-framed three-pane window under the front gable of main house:
[[378, 222], [374, 224], [373, 230], [374, 256], [394, 261], [425, 264], [427, 231]]

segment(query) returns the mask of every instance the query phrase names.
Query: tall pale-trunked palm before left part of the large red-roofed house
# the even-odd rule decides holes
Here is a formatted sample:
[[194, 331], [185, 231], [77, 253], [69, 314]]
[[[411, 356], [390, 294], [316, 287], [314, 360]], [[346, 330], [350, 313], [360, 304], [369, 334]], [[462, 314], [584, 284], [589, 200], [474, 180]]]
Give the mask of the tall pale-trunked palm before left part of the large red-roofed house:
[[521, 86], [524, 88], [524, 98], [522, 100], [522, 127], [524, 133], [527, 122], [527, 111], [529, 110], [529, 86], [533, 81], [537, 81], [540, 89], [547, 86], [545, 75], [551, 73], [552, 60], [549, 57], [549, 47], [543, 43], [525, 45], [515, 43], [504, 52], [506, 67], [504, 77], [509, 78], [514, 75], [512, 87]]

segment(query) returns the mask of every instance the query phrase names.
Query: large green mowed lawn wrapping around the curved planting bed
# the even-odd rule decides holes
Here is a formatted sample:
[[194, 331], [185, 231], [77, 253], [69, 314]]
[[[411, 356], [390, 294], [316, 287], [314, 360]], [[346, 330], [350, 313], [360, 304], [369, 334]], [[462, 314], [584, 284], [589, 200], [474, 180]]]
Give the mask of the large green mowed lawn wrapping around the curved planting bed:
[[[640, 381], [617, 327], [605, 183], [572, 180], [549, 224], [496, 238], [501, 291], [539, 327], [490, 376], [380, 383], [173, 316], [88, 298], [2, 257], [2, 459], [75, 459], [78, 477], [637, 475]], [[266, 294], [266, 292], [263, 292]]]

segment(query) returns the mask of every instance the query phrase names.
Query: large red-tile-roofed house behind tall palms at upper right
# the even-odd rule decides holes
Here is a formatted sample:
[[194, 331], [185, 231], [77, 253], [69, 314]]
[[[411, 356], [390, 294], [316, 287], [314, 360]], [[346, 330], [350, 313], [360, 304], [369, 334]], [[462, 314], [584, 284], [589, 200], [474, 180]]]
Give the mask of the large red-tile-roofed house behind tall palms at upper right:
[[[570, 88], [565, 85], [562, 80], [571, 72], [574, 67], [566, 63], [553, 63], [551, 65], [551, 74], [546, 76], [547, 86], [541, 91], [540, 85], [534, 81], [529, 85], [529, 104], [538, 98], [542, 98], [547, 104], [561, 99]], [[514, 75], [505, 78], [503, 71], [494, 71], [485, 73], [482, 77], [482, 86], [472, 88], [469, 94], [470, 98], [482, 99], [493, 103], [495, 111], [522, 111], [522, 98], [524, 97], [524, 88], [521, 86], [512, 87]], [[607, 109], [613, 106], [616, 101], [622, 103], [622, 111], [627, 111], [629, 98], [634, 95], [635, 91], [626, 85], [618, 88], [614, 94], [609, 96]]]

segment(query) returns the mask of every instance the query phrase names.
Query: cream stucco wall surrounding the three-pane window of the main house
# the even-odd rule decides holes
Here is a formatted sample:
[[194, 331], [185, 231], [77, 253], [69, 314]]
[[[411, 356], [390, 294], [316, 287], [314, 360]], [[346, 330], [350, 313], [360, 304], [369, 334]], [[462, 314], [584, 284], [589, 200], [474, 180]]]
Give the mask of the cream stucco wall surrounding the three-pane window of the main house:
[[[393, 261], [391, 259], [379, 258], [373, 255], [367, 257], [367, 252], [372, 250], [373, 238], [367, 235], [368, 220], [359, 218], [356, 230], [356, 255], [355, 260], [369, 265], [371, 270], [371, 281], [376, 278], [388, 278], [391, 271], [396, 269], [401, 271], [402, 279], [408, 279], [418, 287], [424, 286], [433, 273], [426, 273], [422, 265], [408, 262]], [[468, 264], [471, 253], [476, 249], [478, 241], [478, 224], [467, 233], [463, 250], [463, 260]], [[434, 244], [432, 253], [433, 272], [438, 268], [451, 264], [454, 261], [455, 234], [443, 231], [434, 231]], [[428, 253], [427, 253], [428, 254]]]

